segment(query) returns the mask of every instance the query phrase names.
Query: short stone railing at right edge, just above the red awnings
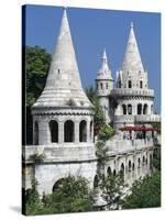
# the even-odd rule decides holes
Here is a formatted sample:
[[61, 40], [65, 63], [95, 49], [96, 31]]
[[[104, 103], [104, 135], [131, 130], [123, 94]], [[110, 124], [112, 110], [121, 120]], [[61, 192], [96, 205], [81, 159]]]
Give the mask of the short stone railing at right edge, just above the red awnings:
[[136, 122], [161, 122], [160, 114], [143, 114], [143, 116], [135, 116]]

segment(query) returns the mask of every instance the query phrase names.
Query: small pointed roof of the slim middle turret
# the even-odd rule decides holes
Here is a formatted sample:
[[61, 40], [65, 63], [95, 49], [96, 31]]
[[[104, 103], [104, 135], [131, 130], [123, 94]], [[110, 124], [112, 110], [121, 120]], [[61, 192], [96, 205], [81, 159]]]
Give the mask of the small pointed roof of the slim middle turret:
[[98, 72], [97, 79], [112, 79], [111, 70], [108, 65], [106, 48], [103, 50], [101, 59], [101, 68]]

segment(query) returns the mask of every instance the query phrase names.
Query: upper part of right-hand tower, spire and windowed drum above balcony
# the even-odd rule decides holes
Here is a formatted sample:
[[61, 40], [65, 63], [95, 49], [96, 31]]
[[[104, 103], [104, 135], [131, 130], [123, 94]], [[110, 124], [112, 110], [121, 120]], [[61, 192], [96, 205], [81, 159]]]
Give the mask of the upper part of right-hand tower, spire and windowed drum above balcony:
[[133, 23], [131, 23], [122, 65], [118, 72], [117, 87], [147, 89], [147, 73], [141, 61]]

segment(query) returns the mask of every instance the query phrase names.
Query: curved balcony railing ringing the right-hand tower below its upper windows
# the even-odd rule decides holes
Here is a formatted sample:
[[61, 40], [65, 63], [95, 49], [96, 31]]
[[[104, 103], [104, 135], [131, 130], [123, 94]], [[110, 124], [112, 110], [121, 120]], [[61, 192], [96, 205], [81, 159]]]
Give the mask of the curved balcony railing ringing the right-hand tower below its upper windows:
[[111, 96], [148, 96], [154, 97], [153, 89], [123, 89], [116, 88], [110, 92]]

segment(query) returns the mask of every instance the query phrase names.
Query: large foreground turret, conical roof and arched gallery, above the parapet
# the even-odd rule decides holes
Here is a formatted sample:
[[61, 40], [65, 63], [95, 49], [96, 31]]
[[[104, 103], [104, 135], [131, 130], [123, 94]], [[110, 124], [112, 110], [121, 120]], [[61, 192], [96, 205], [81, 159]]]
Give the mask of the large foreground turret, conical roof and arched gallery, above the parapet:
[[94, 107], [81, 87], [66, 9], [46, 85], [32, 114], [34, 144], [94, 143]]

